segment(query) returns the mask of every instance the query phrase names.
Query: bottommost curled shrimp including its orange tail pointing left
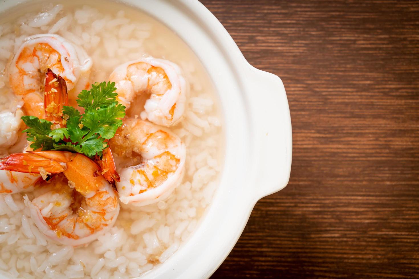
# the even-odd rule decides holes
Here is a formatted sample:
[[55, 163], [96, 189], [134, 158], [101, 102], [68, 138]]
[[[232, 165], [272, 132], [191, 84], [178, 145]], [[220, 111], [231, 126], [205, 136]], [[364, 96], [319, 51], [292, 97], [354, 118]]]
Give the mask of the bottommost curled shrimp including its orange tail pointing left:
[[[114, 225], [119, 204], [100, 167], [87, 156], [68, 151], [16, 153], [0, 161], [0, 169], [52, 177], [44, 193], [25, 203], [39, 230], [58, 243], [79, 246]], [[42, 185], [45, 185], [42, 184]]]

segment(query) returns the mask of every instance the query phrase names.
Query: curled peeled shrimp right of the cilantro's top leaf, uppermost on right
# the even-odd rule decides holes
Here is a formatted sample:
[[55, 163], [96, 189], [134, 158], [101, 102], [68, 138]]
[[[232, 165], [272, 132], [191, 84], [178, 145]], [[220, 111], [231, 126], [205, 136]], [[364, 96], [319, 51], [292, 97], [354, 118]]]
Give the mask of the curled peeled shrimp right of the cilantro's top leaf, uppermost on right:
[[136, 95], [150, 95], [140, 114], [143, 120], [166, 127], [181, 120], [189, 87], [173, 62], [153, 57], [129, 61], [116, 67], [109, 79], [127, 109]]

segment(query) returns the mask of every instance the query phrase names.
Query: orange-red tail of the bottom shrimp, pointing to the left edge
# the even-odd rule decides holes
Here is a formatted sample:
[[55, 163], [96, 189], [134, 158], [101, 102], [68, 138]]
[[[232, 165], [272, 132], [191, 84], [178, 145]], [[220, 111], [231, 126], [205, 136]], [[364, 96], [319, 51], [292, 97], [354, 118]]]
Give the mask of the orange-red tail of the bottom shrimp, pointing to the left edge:
[[59, 161], [46, 159], [44, 156], [39, 155], [39, 153], [43, 152], [47, 151], [11, 154], [1, 159], [0, 169], [35, 174], [39, 174], [41, 171], [57, 174], [65, 170], [65, 167]]

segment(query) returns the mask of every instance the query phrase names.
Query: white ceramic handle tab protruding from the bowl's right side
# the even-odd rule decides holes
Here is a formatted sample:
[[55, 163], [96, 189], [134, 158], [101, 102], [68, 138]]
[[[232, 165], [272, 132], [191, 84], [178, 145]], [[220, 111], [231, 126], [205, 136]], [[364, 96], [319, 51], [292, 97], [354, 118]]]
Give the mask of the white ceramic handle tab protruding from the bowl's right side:
[[253, 131], [255, 187], [258, 200], [284, 188], [290, 179], [292, 131], [282, 80], [254, 67], [246, 75]]

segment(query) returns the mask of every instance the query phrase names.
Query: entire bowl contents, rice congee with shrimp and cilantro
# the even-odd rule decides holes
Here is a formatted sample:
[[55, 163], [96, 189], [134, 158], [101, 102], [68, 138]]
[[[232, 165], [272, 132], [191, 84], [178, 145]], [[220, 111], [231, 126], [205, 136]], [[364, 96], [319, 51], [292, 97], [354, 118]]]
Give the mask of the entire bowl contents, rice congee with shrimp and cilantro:
[[141, 276], [194, 233], [217, 188], [222, 120], [199, 59], [137, 9], [85, 3], [2, 15], [8, 277]]

